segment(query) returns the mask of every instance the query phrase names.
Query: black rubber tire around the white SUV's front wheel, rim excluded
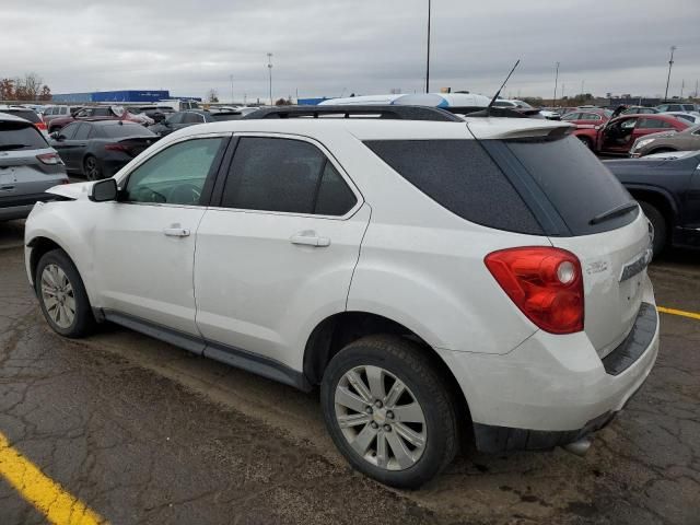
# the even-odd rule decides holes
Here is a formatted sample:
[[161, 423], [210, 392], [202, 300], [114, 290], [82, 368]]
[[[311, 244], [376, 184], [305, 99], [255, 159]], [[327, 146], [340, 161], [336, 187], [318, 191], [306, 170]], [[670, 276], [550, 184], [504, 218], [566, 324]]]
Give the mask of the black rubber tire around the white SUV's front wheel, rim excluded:
[[[44, 269], [49, 265], [56, 265], [60, 268], [68, 278], [72, 288], [71, 296], [74, 299], [75, 314], [69, 326], [59, 326], [47, 310], [45, 302], [46, 299], [42, 292], [42, 276], [44, 273]], [[90, 305], [90, 300], [88, 299], [88, 292], [85, 292], [83, 280], [78, 272], [78, 268], [75, 268], [75, 265], [70, 260], [70, 257], [66, 252], [62, 249], [54, 249], [42, 256], [39, 262], [36, 265], [34, 287], [44, 317], [54, 331], [65, 337], [79, 338], [86, 336], [94, 329], [95, 317], [92, 313], [92, 306]]]

